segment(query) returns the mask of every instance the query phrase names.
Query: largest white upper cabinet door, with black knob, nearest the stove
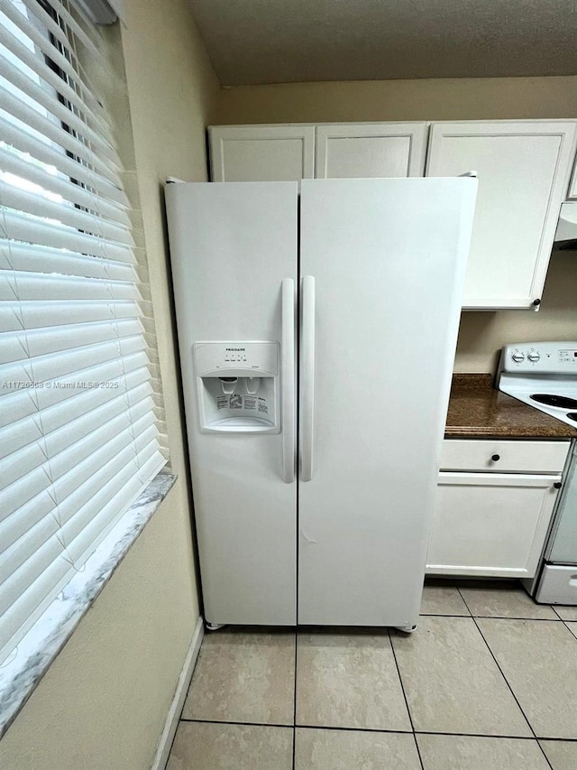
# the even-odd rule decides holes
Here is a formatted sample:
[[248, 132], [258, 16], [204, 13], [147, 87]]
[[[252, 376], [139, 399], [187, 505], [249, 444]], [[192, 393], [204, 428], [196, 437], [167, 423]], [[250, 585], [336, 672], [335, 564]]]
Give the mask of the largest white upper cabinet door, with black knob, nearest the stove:
[[538, 307], [576, 127], [527, 120], [432, 126], [426, 175], [479, 176], [464, 308]]

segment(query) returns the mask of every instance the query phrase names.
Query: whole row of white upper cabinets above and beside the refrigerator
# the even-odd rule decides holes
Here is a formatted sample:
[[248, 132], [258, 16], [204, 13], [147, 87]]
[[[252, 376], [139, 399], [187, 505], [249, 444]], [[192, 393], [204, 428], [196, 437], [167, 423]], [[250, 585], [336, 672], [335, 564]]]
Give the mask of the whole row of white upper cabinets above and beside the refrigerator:
[[538, 307], [561, 204], [577, 199], [575, 120], [215, 125], [208, 131], [212, 181], [476, 171], [463, 298], [470, 310]]

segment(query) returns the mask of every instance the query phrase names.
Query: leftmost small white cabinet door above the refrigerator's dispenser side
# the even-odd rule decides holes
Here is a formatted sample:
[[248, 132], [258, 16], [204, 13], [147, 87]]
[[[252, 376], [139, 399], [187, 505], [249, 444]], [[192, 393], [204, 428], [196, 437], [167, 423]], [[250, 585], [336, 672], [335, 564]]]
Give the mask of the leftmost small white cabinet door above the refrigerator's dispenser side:
[[213, 125], [212, 181], [300, 181], [315, 176], [314, 125]]

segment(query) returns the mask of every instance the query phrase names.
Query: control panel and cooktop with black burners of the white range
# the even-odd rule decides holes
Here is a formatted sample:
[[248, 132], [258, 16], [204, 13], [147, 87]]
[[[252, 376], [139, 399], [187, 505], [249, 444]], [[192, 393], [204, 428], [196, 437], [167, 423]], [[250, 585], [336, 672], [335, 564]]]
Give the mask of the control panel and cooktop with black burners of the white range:
[[501, 351], [499, 390], [577, 427], [577, 342], [523, 342]]

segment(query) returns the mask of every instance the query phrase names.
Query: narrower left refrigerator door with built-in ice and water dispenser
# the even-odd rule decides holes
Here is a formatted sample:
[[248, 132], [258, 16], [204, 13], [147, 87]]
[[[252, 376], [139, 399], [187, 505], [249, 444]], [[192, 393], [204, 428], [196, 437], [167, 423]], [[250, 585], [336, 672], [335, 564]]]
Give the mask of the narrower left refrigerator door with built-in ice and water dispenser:
[[[166, 199], [205, 617], [215, 625], [294, 625], [295, 410], [287, 404], [296, 366], [294, 351], [292, 360], [287, 353], [295, 324], [297, 184], [169, 184]], [[225, 344], [197, 345], [195, 363], [198, 342]], [[205, 374], [228, 367], [222, 380], [197, 376], [201, 358]], [[243, 376], [255, 362], [271, 375], [261, 388]], [[258, 424], [243, 431], [234, 419], [234, 431], [206, 430], [199, 402], [220, 398], [233, 413], [234, 403], [255, 402], [265, 391], [280, 399], [279, 431], [259, 432]], [[244, 422], [252, 430], [251, 419]]]

